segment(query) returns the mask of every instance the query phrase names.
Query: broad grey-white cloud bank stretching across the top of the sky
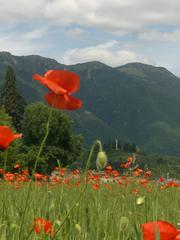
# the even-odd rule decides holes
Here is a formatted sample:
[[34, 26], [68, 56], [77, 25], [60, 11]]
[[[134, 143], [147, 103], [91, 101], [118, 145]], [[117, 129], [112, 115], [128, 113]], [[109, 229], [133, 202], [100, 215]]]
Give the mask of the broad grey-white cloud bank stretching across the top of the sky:
[[49, 21], [125, 34], [180, 24], [179, 0], [0, 0], [0, 22]]

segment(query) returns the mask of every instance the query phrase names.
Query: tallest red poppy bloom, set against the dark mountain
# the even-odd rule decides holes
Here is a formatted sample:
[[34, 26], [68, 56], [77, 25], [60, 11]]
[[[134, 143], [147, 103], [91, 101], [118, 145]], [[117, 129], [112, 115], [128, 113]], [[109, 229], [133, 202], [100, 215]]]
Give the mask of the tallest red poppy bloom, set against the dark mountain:
[[81, 100], [71, 96], [79, 89], [80, 77], [75, 73], [66, 70], [49, 70], [43, 77], [34, 74], [32, 78], [51, 90], [45, 95], [45, 99], [52, 107], [75, 110], [82, 106]]

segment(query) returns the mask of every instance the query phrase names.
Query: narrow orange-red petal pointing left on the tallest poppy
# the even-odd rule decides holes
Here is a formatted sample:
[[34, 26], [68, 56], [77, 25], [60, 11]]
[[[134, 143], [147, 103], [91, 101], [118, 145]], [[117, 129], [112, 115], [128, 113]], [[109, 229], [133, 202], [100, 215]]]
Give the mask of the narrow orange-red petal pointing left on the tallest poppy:
[[61, 85], [58, 85], [55, 81], [49, 80], [46, 77], [42, 77], [39, 74], [34, 74], [32, 78], [39, 81], [40, 83], [42, 83], [44, 86], [46, 86], [56, 94], [67, 93], [67, 90], [61, 87]]

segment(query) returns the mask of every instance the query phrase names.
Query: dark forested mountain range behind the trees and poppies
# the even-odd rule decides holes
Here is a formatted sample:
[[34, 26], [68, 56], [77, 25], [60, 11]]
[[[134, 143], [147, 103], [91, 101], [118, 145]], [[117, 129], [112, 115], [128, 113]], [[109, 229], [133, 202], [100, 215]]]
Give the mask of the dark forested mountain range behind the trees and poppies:
[[29, 102], [42, 101], [45, 89], [32, 74], [68, 69], [81, 77], [76, 94], [84, 102], [72, 112], [76, 132], [86, 143], [119, 137], [146, 152], [180, 155], [180, 79], [163, 67], [130, 63], [110, 67], [100, 62], [63, 65], [40, 56], [0, 53], [0, 84], [13, 65], [18, 87]]

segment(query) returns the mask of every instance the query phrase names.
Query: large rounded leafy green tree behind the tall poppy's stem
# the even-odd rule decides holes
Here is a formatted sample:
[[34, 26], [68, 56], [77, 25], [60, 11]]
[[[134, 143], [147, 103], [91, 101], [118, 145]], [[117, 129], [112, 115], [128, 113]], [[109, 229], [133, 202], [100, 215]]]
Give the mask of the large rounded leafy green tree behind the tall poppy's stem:
[[[32, 168], [39, 146], [45, 136], [50, 108], [42, 103], [30, 104], [24, 114], [22, 132], [26, 145], [27, 166]], [[52, 110], [50, 130], [43, 149], [38, 171], [51, 172], [57, 160], [63, 166], [77, 160], [82, 151], [83, 138], [72, 134], [72, 121], [59, 110]], [[25, 148], [24, 148], [25, 149]]]

